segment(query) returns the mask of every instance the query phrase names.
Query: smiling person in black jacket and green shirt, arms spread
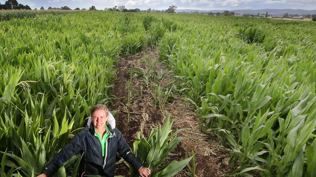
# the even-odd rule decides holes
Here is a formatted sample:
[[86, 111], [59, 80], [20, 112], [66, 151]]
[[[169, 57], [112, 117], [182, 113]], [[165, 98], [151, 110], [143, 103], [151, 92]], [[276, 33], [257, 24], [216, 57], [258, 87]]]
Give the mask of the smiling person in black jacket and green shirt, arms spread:
[[57, 153], [38, 177], [51, 177], [57, 169], [79, 151], [83, 153], [79, 175], [114, 177], [116, 152], [138, 170], [141, 177], [149, 177], [149, 168], [136, 159], [122, 133], [107, 125], [109, 112], [105, 105], [97, 104], [91, 109], [90, 126], [80, 131]]

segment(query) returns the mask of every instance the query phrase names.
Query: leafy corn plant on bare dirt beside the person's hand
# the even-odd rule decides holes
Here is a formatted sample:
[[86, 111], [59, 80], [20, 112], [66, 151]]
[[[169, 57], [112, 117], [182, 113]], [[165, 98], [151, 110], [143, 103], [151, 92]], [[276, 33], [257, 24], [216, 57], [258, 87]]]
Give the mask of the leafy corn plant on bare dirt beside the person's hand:
[[[152, 177], [174, 176], [193, 158], [191, 156], [179, 162], [172, 161], [157, 169], [183, 139], [176, 137], [181, 129], [172, 133], [172, 125], [173, 120], [167, 117], [164, 126], [153, 129], [147, 138], [140, 137], [140, 132], [138, 132], [137, 140], [133, 144], [136, 157], [151, 170]], [[130, 167], [130, 174], [131, 177], [137, 177], [137, 172], [132, 167]]]

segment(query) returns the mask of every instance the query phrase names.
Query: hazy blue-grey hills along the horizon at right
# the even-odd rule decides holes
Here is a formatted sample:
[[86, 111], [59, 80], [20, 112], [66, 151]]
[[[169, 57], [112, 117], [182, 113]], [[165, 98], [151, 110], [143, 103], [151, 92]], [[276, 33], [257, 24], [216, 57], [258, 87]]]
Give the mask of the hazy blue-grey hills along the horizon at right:
[[[176, 9], [176, 12], [199, 12], [199, 13], [217, 13], [217, 12], [224, 12], [224, 10], [212, 10], [212, 11], [201, 11], [195, 9]], [[245, 10], [230, 10], [234, 13], [238, 14], [250, 14], [250, 15], [257, 15], [265, 14], [268, 12], [269, 15], [272, 16], [282, 16], [285, 13], [288, 14], [298, 14], [298, 15], [306, 15], [306, 14], [316, 14], [316, 10], [303, 10], [303, 9], [260, 9], [260, 10], [252, 10], [252, 9], [245, 9]]]

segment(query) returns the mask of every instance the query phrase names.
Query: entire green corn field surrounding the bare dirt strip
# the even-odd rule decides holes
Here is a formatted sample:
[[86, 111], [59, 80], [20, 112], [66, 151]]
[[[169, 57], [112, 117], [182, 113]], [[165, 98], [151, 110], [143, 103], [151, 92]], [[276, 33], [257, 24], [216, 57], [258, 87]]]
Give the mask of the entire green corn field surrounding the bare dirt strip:
[[[201, 131], [232, 152], [235, 170], [226, 175], [316, 176], [315, 22], [44, 12], [0, 11], [1, 177], [40, 174], [84, 127], [91, 106], [113, 103], [120, 57], [147, 47], [177, 76], [174, 89], [195, 106]], [[161, 145], [169, 132], [160, 131], [134, 143], [148, 165], [158, 166], [157, 154], [146, 162], [140, 152]], [[162, 142], [170, 140], [168, 153], [181, 139], [175, 135]], [[76, 176], [79, 161], [70, 159], [57, 176]]]

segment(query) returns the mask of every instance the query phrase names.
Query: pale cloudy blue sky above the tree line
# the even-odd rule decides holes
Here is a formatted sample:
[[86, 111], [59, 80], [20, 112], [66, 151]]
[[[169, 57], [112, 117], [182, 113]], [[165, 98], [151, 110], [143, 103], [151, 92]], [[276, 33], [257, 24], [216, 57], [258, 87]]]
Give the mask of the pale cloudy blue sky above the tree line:
[[[5, 1], [0, 0], [0, 3], [3, 4]], [[177, 9], [196, 10], [316, 9], [316, 0], [18, 0], [18, 3], [29, 5], [32, 9], [65, 5], [71, 9], [76, 7], [88, 9], [94, 5], [98, 10], [121, 5], [127, 9], [140, 10], [148, 8], [162, 10], [170, 5], [176, 5]]]

